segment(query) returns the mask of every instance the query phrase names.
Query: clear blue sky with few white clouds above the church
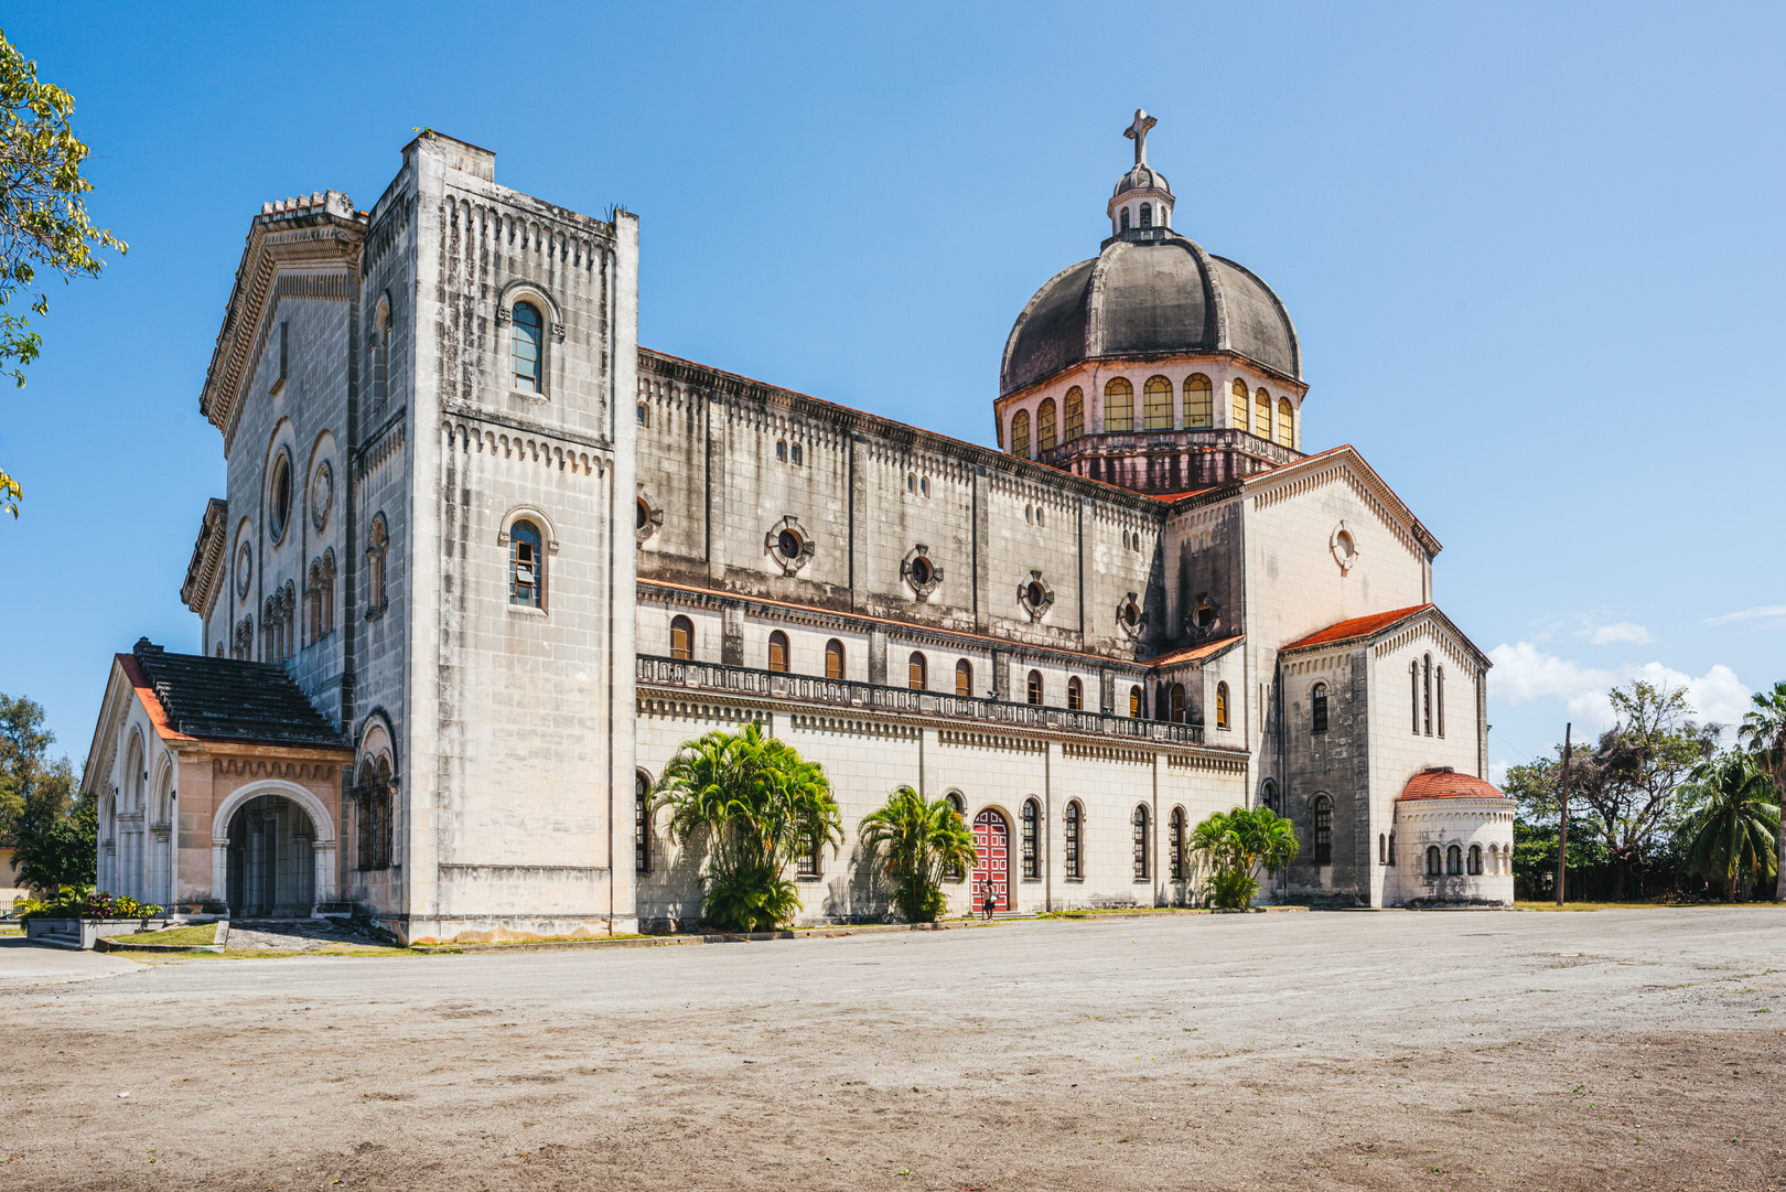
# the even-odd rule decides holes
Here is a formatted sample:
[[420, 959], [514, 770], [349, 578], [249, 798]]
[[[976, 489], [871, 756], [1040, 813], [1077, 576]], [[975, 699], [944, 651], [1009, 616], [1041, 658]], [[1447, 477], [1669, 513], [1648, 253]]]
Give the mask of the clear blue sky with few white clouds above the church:
[[1011, 322], [1107, 234], [1136, 107], [1175, 227], [1297, 320], [1304, 445], [1356, 443], [1445, 543], [1495, 763], [1636, 674], [1727, 720], [1786, 677], [1786, 7], [1116, 13], [11, 7], [130, 254], [52, 288], [0, 393], [0, 692], [79, 761], [114, 651], [196, 649], [198, 388], [264, 200], [370, 206], [414, 127], [450, 132], [641, 214], [647, 345], [989, 443]]

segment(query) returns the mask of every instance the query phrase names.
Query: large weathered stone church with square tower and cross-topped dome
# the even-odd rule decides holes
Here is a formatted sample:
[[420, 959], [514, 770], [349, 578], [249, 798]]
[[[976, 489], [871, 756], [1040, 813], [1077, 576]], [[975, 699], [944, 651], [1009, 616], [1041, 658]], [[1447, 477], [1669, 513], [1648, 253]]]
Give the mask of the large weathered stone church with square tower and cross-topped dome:
[[263, 206], [200, 393], [202, 649], [118, 654], [88, 756], [102, 888], [409, 942], [693, 926], [648, 790], [759, 722], [850, 842], [797, 861], [802, 922], [889, 913], [854, 842], [898, 785], [973, 827], [956, 911], [1195, 904], [1182, 842], [1259, 804], [1302, 844], [1266, 899], [1511, 904], [1440, 543], [1304, 445], [1289, 313], [1177, 231], [1152, 125], [1016, 316], [997, 447], [639, 347], [639, 218], [438, 132], [370, 211]]

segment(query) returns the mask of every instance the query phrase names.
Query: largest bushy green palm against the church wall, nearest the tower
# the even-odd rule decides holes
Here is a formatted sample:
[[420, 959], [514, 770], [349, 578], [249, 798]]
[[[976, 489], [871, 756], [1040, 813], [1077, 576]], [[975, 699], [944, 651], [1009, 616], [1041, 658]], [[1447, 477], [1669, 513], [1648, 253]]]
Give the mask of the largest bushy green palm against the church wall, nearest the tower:
[[702, 913], [722, 931], [791, 922], [800, 894], [784, 870], [843, 844], [825, 770], [757, 722], [684, 742], [654, 793], [652, 806], [670, 810], [670, 838], [707, 851]]

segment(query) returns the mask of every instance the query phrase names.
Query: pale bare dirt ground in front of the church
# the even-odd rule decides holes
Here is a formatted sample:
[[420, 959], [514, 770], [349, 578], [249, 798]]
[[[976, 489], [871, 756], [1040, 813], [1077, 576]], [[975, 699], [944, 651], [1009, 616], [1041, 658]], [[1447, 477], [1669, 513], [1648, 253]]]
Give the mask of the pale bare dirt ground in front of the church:
[[0, 1188], [1786, 1185], [1772, 908], [114, 963], [0, 986]]

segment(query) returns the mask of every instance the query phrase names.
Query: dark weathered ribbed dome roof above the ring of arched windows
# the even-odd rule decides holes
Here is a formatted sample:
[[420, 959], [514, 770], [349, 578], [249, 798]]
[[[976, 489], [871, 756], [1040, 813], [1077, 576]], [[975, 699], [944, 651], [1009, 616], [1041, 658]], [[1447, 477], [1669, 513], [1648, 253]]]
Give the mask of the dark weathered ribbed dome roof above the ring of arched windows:
[[1113, 239], [1056, 273], [1018, 315], [998, 393], [1082, 359], [1236, 352], [1302, 379], [1289, 311], [1250, 270], [1181, 236]]

